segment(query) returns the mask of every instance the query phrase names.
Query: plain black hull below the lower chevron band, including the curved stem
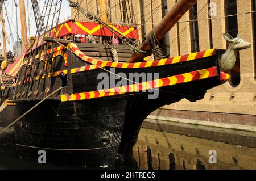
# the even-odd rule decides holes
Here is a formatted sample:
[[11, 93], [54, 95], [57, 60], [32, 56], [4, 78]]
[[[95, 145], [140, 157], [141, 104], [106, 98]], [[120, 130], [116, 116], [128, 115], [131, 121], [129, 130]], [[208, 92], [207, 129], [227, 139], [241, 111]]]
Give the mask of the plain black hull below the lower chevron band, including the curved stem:
[[[74, 102], [47, 100], [2, 134], [0, 153], [38, 161], [38, 151], [45, 150], [47, 163], [135, 169], [132, 149], [142, 121], [157, 108], [177, 102], [195, 90], [200, 89], [194, 96], [202, 99], [205, 90], [218, 83], [217, 78], [211, 78], [166, 87], [162, 90], [183, 91], [180, 95], [161, 91], [158, 99], [148, 99], [144, 93]], [[1, 127], [36, 103], [7, 106], [0, 113]]]

